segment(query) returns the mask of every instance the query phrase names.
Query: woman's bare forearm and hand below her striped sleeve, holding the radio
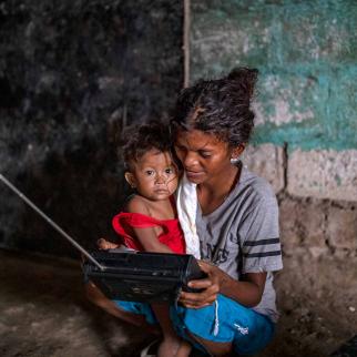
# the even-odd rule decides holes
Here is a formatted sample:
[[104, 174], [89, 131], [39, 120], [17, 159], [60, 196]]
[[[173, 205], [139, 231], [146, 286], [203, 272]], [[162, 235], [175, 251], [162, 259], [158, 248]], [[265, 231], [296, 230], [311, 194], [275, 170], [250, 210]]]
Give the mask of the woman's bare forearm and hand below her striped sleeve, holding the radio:
[[259, 304], [264, 292], [266, 273], [249, 273], [244, 280], [235, 280], [218, 267], [206, 262], [198, 262], [200, 267], [207, 274], [207, 278], [192, 280], [190, 287], [204, 289], [201, 293], [183, 292], [180, 302], [190, 308], [211, 305], [217, 294], [223, 294], [239, 304], [253, 307]]

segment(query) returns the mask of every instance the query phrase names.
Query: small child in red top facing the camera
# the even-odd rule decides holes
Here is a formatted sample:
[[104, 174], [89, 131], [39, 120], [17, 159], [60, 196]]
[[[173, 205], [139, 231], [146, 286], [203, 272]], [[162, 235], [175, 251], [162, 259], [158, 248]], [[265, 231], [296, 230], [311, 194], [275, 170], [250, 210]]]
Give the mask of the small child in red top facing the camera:
[[[178, 172], [171, 154], [167, 126], [150, 122], [129, 128], [123, 137], [125, 180], [136, 193], [130, 196], [124, 211], [112, 222], [121, 243], [137, 251], [185, 253], [184, 235], [173, 198]], [[102, 249], [120, 245], [104, 238], [98, 243]], [[188, 356], [191, 347], [175, 334], [169, 318], [169, 306], [154, 304], [152, 308], [164, 335], [157, 356]]]

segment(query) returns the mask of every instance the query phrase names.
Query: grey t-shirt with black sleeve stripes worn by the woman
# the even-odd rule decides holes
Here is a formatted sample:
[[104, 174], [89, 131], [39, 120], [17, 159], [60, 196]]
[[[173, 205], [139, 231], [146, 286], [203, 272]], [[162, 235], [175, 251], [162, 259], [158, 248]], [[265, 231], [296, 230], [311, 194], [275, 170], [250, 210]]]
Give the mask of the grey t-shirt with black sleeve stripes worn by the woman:
[[235, 279], [244, 273], [267, 272], [261, 303], [254, 310], [273, 322], [275, 305], [273, 273], [283, 268], [278, 228], [278, 207], [271, 185], [242, 167], [235, 188], [208, 215], [196, 215], [201, 256]]

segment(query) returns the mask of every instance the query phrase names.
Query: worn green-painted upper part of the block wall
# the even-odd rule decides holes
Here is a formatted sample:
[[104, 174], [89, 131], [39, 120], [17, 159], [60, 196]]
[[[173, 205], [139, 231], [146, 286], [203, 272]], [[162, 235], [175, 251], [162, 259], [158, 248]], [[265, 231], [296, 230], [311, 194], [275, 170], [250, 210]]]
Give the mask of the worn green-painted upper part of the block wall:
[[356, 29], [354, 0], [193, 0], [191, 80], [255, 67], [255, 143], [356, 149]]

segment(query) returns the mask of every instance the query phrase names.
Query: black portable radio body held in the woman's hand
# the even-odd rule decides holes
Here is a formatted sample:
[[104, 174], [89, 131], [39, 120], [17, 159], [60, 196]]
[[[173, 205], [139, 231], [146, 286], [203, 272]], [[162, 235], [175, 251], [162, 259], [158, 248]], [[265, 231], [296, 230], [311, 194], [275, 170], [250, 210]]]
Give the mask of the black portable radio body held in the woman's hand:
[[[115, 251], [115, 249], [114, 249]], [[147, 252], [94, 252], [83, 264], [86, 279], [110, 299], [129, 302], [174, 302], [192, 279], [204, 277], [196, 259], [188, 254]]]

